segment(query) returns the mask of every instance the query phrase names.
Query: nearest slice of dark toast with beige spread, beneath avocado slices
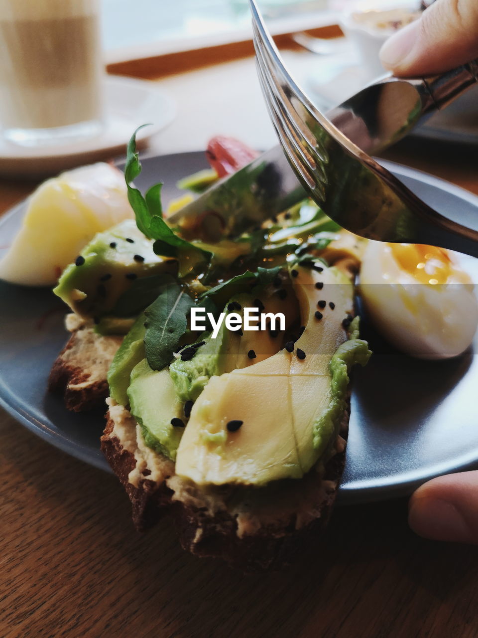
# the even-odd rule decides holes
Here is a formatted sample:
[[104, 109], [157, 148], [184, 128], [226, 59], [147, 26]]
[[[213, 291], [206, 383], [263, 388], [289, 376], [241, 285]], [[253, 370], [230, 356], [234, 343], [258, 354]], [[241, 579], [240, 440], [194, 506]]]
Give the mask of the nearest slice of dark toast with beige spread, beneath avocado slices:
[[126, 408], [112, 399], [107, 403], [101, 450], [126, 489], [138, 530], [170, 514], [184, 549], [254, 571], [283, 567], [308, 537], [316, 539], [326, 526], [344, 471], [348, 408], [329, 460], [302, 479], [263, 488], [199, 489], [175, 475], [173, 461], [146, 447]]

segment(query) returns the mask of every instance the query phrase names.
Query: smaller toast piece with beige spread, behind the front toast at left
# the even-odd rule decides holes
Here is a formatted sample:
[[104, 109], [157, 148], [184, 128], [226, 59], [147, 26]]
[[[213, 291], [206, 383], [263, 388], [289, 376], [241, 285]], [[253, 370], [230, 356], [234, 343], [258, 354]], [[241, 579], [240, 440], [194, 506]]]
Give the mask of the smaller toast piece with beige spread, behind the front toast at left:
[[48, 390], [63, 394], [66, 408], [74, 412], [104, 408], [110, 394], [106, 375], [123, 338], [101, 336], [92, 321], [73, 313], [65, 325], [71, 337], [53, 364]]

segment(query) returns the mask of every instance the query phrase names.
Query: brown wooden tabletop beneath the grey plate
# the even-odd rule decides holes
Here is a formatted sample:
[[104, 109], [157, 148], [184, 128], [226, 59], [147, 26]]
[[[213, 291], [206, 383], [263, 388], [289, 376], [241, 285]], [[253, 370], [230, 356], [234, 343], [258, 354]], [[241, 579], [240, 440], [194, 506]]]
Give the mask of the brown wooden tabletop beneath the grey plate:
[[[250, 60], [237, 64], [252, 69]], [[252, 98], [231, 98], [238, 74], [219, 67], [198, 73], [229, 77], [215, 91], [213, 110], [228, 109], [234, 131], [214, 132], [240, 133], [240, 121], [250, 142], [243, 112]], [[191, 73], [167, 80], [178, 94], [197, 81]], [[194, 103], [182, 103], [177, 123], [154, 147], [170, 152], [186, 141], [201, 148], [214, 112], [184, 140], [181, 131], [194, 131], [199, 116]], [[266, 116], [257, 118], [266, 144]], [[410, 139], [386, 157], [478, 193], [475, 148]], [[0, 209], [31, 188], [0, 181]], [[2, 411], [0, 457], [2, 638], [478, 635], [478, 548], [416, 537], [405, 500], [337, 508], [324, 541], [304, 548], [293, 567], [241, 575], [185, 554], [168, 520], [136, 533], [114, 477], [53, 449]]]

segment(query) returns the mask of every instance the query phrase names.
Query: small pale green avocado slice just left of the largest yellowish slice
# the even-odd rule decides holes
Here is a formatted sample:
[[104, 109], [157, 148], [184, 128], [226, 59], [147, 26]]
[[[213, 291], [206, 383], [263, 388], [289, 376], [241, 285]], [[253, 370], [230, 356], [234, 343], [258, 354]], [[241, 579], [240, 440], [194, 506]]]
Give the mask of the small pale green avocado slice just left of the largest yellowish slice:
[[168, 368], [152, 370], [141, 360], [131, 371], [127, 396], [145, 444], [174, 461], [185, 417]]

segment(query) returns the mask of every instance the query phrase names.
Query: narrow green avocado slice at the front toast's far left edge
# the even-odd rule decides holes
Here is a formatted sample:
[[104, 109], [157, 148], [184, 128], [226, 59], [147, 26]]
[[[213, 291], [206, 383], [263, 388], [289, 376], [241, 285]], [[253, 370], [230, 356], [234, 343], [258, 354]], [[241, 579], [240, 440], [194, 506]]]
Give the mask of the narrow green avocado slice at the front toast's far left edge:
[[131, 371], [145, 358], [145, 315], [140, 316], [133, 323], [123, 343], [119, 346], [110, 369], [108, 370], [108, 385], [110, 396], [120, 405], [128, 404], [127, 388], [130, 383]]

